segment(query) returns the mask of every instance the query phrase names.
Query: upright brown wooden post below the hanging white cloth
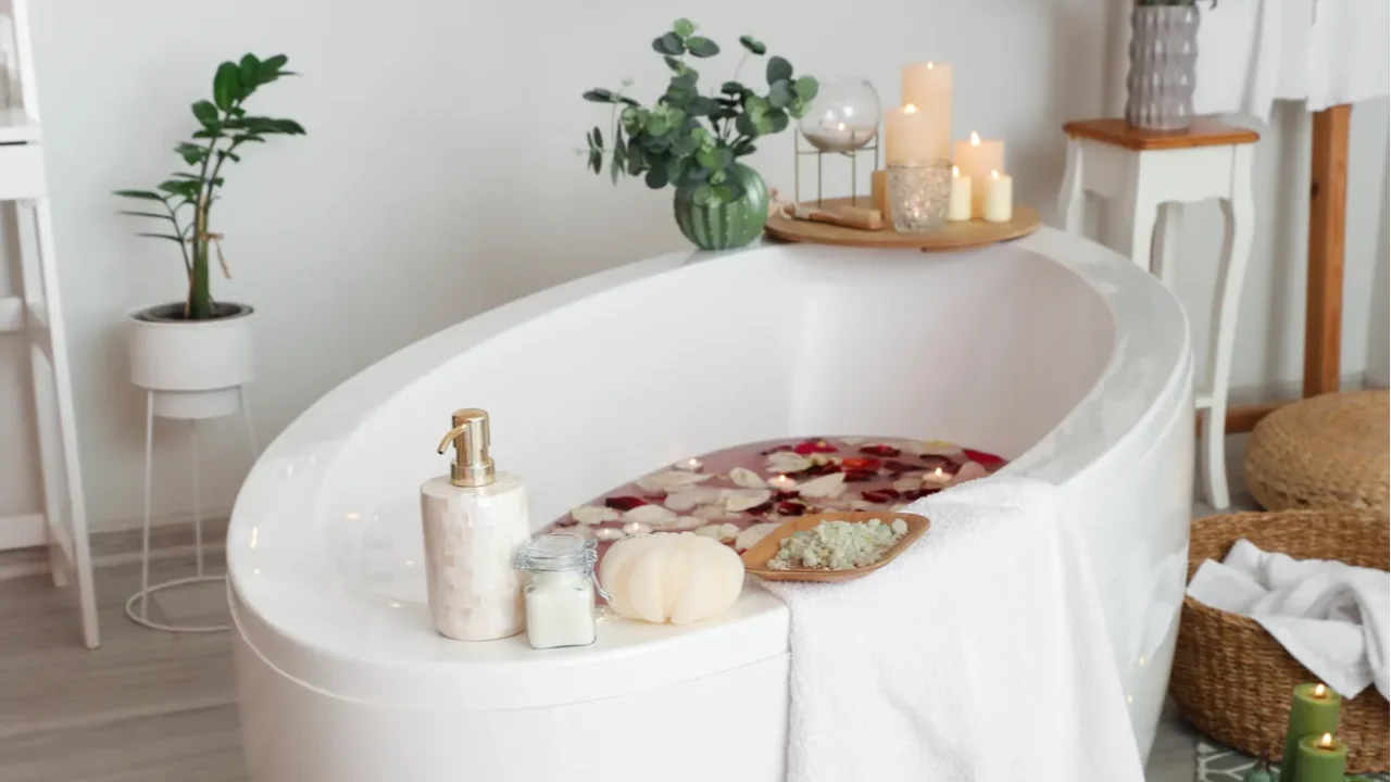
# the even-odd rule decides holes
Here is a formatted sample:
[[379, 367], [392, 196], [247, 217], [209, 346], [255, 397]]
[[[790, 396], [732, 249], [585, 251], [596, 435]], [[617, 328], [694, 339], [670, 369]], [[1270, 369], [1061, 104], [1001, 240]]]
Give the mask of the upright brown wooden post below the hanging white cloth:
[[1305, 301], [1305, 397], [1338, 390], [1342, 352], [1342, 250], [1348, 213], [1352, 106], [1313, 115], [1309, 181], [1309, 280]]

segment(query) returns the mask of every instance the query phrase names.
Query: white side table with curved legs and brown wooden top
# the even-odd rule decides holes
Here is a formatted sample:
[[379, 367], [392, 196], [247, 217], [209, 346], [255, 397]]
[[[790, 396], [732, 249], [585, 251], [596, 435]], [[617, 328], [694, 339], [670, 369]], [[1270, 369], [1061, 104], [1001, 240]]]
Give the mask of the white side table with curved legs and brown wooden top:
[[[1082, 120], [1067, 132], [1067, 174], [1059, 213], [1068, 232], [1082, 231], [1085, 195], [1113, 199], [1129, 228], [1129, 257], [1174, 289], [1182, 205], [1216, 198], [1227, 224], [1221, 269], [1213, 296], [1207, 388], [1198, 392], [1202, 410], [1199, 461], [1203, 493], [1213, 508], [1225, 508], [1227, 390], [1231, 383], [1237, 308], [1251, 260], [1255, 205], [1251, 164], [1259, 135], [1248, 128], [1200, 118], [1184, 132], [1135, 131], [1124, 120]], [[1155, 228], [1161, 230], [1156, 234]]]

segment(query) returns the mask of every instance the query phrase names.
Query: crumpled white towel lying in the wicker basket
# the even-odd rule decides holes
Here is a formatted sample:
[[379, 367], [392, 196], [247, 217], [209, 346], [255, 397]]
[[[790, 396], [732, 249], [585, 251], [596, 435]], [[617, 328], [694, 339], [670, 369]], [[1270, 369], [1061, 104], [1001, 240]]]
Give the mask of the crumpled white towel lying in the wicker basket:
[[1198, 568], [1188, 594], [1251, 616], [1344, 697], [1374, 683], [1391, 699], [1391, 573], [1292, 559], [1242, 538]]

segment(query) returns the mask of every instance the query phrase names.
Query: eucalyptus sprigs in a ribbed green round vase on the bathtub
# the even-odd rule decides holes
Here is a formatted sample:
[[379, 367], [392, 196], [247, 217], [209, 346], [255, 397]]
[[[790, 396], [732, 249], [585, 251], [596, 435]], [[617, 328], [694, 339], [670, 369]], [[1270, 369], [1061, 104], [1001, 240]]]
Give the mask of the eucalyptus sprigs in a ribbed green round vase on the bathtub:
[[766, 53], [762, 42], [743, 36], [744, 56], [730, 81], [702, 95], [700, 74], [690, 58], [719, 54], [719, 46], [689, 19], [652, 40], [652, 49], [672, 70], [666, 92], [651, 107], [618, 90], [595, 88], [586, 100], [612, 104], [609, 132], [595, 127], [586, 135], [586, 161], [602, 174], [644, 177], [647, 186], [676, 188], [676, 224], [704, 249], [747, 245], [768, 221], [768, 188], [757, 171], [739, 161], [754, 152], [759, 136], [782, 132], [791, 118], [807, 113], [817, 96], [817, 79], [796, 77], [791, 63], [771, 57], [764, 70], [766, 92], [739, 82], [750, 56]]

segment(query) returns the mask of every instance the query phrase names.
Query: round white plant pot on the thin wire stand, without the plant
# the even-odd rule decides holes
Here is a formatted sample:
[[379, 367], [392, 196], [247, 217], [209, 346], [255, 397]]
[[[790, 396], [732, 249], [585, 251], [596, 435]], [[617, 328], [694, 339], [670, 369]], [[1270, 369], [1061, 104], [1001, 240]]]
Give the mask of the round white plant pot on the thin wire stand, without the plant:
[[154, 395], [154, 415], [206, 419], [235, 413], [241, 387], [255, 377], [252, 367], [252, 308], [217, 305], [228, 310], [209, 320], [160, 317], [182, 305], [157, 305], [129, 313], [131, 383]]

